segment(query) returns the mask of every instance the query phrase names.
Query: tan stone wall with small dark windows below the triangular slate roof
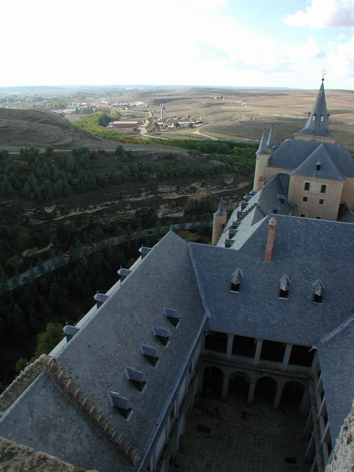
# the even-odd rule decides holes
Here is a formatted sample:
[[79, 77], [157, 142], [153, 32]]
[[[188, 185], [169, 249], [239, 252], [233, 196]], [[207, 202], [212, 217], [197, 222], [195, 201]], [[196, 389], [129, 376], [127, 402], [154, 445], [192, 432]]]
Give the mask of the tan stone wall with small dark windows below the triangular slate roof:
[[[310, 184], [305, 190], [305, 183]], [[325, 193], [321, 186], [326, 185]], [[315, 179], [311, 177], [291, 176], [289, 184], [289, 199], [295, 203], [293, 215], [305, 215], [308, 218], [320, 217], [324, 220], [337, 220], [338, 207], [341, 201], [343, 182], [336, 180]], [[303, 198], [307, 198], [304, 202]], [[321, 205], [319, 202], [323, 200]]]

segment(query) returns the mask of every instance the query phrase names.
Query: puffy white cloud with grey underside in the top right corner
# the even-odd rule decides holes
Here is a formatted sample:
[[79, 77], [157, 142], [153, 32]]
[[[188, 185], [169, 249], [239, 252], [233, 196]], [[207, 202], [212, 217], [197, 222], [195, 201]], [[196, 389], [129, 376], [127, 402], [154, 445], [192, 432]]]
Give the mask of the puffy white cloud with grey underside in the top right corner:
[[282, 20], [289, 26], [351, 28], [354, 27], [354, 0], [311, 0], [305, 11], [298, 10]]

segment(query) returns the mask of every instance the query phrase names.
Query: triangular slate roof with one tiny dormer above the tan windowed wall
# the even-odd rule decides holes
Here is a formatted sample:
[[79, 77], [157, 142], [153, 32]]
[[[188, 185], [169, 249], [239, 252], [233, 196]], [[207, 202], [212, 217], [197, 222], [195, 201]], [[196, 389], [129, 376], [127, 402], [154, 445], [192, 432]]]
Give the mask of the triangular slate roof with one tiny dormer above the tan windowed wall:
[[[317, 170], [320, 167], [320, 170]], [[327, 180], [338, 180], [340, 182], [345, 180], [345, 176], [341, 174], [332, 161], [328, 151], [321, 143], [311, 152], [296, 169], [291, 173], [291, 176], [303, 176], [312, 178], [324, 178]]]

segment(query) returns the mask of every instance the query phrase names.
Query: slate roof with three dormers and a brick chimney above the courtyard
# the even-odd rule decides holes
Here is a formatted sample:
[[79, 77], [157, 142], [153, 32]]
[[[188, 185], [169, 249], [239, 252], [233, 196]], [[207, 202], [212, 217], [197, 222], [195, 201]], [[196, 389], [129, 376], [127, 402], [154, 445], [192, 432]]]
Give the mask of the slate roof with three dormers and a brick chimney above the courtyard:
[[[264, 262], [268, 220], [261, 220], [240, 247], [233, 250], [191, 244], [196, 273], [211, 318], [210, 329], [281, 342], [313, 345], [353, 309], [354, 285], [348, 284], [353, 264], [354, 225], [275, 215], [272, 260]], [[230, 292], [230, 279], [242, 270], [240, 292]], [[279, 280], [291, 285], [279, 299]], [[352, 275], [349, 276], [351, 279]], [[322, 303], [313, 303], [313, 284], [321, 279]]]

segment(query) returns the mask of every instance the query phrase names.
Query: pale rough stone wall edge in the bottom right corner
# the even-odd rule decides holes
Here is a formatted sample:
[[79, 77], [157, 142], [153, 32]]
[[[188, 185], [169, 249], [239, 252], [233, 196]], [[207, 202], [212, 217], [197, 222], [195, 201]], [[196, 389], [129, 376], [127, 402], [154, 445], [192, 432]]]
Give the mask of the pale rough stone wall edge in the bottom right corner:
[[352, 410], [344, 420], [333, 451], [331, 463], [325, 472], [354, 471], [354, 402]]

